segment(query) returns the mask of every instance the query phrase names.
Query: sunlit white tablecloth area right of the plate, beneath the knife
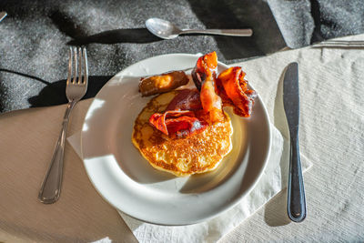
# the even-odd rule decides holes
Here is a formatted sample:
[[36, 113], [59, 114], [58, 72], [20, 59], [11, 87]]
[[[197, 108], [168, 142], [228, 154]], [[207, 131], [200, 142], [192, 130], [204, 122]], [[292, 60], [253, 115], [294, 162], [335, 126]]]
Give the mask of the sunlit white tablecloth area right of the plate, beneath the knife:
[[314, 164], [305, 174], [308, 217], [300, 224], [283, 217], [285, 192], [223, 242], [364, 240], [364, 48], [307, 47], [242, 63], [278, 128], [277, 87], [293, 61], [299, 65], [300, 148]]

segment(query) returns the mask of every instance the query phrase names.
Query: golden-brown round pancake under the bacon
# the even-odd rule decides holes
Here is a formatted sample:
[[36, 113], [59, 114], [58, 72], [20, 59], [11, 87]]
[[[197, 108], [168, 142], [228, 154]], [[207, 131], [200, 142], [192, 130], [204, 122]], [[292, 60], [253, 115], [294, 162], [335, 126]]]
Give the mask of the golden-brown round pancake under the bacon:
[[214, 170], [232, 148], [233, 128], [227, 113], [225, 122], [208, 125], [197, 135], [179, 139], [171, 139], [149, 124], [149, 117], [164, 112], [177, 94], [174, 90], [149, 101], [136, 118], [133, 144], [152, 167], [177, 177]]

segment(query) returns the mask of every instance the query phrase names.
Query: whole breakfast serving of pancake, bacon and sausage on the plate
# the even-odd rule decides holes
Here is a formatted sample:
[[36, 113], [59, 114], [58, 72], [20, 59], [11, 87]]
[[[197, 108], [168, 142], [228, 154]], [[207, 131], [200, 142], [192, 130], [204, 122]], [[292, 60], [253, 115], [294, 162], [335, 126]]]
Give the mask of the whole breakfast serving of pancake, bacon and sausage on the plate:
[[[248, 88], [241, 67], [217, 76], [215, 52], [201, 56], [191, 76], [197, 88], [174, 90], [187, 84], [177, 71], [141, 79], [139, 91], [152, 98], [136, 118], [132, 141], [152, 167], [186, 177], [211, 171], [232, 148], [232, 106], [238, 116], [251, 115], [257, 93]], [[186, 76], [187, 77], [187, 76]], [[147, 81], [146, 81], [147, 80]]]

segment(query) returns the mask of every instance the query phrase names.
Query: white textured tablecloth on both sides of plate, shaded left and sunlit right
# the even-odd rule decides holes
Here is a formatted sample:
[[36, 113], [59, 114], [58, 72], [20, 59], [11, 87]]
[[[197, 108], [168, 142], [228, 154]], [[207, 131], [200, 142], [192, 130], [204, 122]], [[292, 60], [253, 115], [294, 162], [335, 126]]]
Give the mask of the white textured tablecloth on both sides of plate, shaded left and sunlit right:
[[[364, 35], [353, 38], [364, 39]], [[300, 146], [314, 163], [305, 174], [308, 217], [286, 217], [286, 193], [233, 230], [223, 242], [363, 241], [364, 56], [357, 48], [303, 48], [238, 64], [282, 130], [279, 86], [299, 64]], [[80, 102], [69, 134], [80, 129], [90, 100]], [[65, 106], [0, 116], [0, 241], [136, 241], [116, 210], [97, 195], [80, 159], [66, 146], [62, 197], [45, 206], [36, 195], [53, 153]]]

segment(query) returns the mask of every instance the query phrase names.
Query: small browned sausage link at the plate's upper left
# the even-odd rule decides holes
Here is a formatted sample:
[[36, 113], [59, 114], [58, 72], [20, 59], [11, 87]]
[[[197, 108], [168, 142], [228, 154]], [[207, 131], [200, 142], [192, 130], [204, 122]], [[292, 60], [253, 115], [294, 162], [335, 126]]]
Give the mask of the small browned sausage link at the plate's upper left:
[[183, 71], [173, 71], [157, 76], [148, 76], [140, 80], [139, 92], [142, 93], [142, 96], [166, 93], [178, 86], [187, 85], [188, 80], [187, 75]]

